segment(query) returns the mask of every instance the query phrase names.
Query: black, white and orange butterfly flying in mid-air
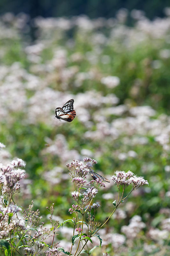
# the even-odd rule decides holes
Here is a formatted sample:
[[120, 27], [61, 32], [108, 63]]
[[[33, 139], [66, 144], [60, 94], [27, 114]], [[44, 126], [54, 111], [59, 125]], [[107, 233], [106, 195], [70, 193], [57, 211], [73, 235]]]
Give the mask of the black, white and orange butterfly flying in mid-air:
[[[62, 108], [55, 109], [55, 117], [57, 119], [62, 119], [67, 122], [73, 121], [76, 116], [76, 111], [73, 109], [74, 100], [71, 99], [67, 101]], [[61, 120], [60, 120], [61, 121]]]

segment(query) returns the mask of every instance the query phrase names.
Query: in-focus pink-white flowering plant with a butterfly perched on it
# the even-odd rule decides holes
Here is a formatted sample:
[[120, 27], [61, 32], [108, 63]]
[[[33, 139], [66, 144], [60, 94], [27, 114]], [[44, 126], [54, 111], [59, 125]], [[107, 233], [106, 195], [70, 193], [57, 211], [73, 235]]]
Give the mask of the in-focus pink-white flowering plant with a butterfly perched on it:
[[[74, 246], [76, 240], [78, 240], [74, 256], [78, 256], [82, 252], [86, 252], [88, 255], [90, 255], [96, 246], [89, 250], [87, 243], [92, 243], [92, 238], [94, 236], [100, 240], [101, 246], [102, 239], [99, 235], [97, 235], [97, 232], [100, 230], [100, 228], [102, 228], [107, 223], [119, 204], [122, 203], [133, 190], [136, 190], [144, 184], [148, 185], [147, 180], [144, 180], [143, 177], [137, 177], [131, 171], [116, 171], [115, 174], [111, 177], [115, 183], [115, 186], [118, 188], [118, 198], [113, 202], [115, 207], [108, 219], [103, 224], [98, 223], [95, 220], [95, 212], [97, 208], [100, 207], [100, 203], [93, 203], [92, 201], [98, 193], [99, 189], [101, 187], [105, 187], [105, 184], [102, 181], [102, 178], [96, 178], [95, 180], [90, 180], [89, 182], [86, 181], [86, 175], [92, 171], [93, 164], [97, 164], [97, 162], [94, 159], [92, 160], [88, 157], [86, 157], [84, 161], [74, 160], [71, 162], [71, 164], [67, 164], [67, 168], [69, 169], [69, 174], [74, 185], [74, 191], [71, 193], [71, 195], [75, 201], [75, 204], [72, 204], [69, 212], [70, 214], [75, 213], [75, 217], [73, 217], [71, 220], [65, 220], [62, 225], [68, 221], [73, 223], [74, 229], [70, 255], [72, 252], [72, 247]], [[131, 191], [127, 196], [124, 196], [125, 189], [131, 183], [133, 184]], [[79, 220], [79, 216], [81, 216], [81, 220]], [[85, 226], [87, 227], [87, 232], [83, 233]], [[76, 231], [78, 234], [75, 235]]]

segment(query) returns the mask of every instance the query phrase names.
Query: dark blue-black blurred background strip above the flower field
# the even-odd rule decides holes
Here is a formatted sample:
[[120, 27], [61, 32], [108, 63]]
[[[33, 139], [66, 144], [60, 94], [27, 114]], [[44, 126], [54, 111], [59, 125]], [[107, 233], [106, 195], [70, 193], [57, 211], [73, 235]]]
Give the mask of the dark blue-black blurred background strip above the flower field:
[[0, 14], [5, 12], [25, 12], [36, 16], [58, 17], [86, 14], [90, 18], [115, 16], [120, 8], [143, 10], [149, 19], [164, 16], [164, 8], [170, 6], [169, 0], [1, 0]]

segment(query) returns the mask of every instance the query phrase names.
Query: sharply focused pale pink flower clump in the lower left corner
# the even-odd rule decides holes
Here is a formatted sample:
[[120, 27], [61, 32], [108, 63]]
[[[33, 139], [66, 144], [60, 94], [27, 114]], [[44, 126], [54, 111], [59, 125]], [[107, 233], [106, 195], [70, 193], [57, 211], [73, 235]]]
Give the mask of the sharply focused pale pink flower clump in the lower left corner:
[[[4, 148], [0, 143], [0, 149]], [[33, 211], [33, 202], [26, 211], [15, 203], [15, 194], [19, 192], [19, 181], [24, 177], [25, 163], [22, 159], [13, 160], [4, 165], [0, 162], [0, 251], [2, 255], [45, 255], [60, 256], [63, 248], [57, 248], [54, 242], [58, 222], [53, 220], [54, 206], [47, 207], [50, 212], [51, 228], [41, 224], [39, 210]], [[46, 240], [52, 237], [52, 243]], [[64, 252], [65, 253], [65, 252]]]

